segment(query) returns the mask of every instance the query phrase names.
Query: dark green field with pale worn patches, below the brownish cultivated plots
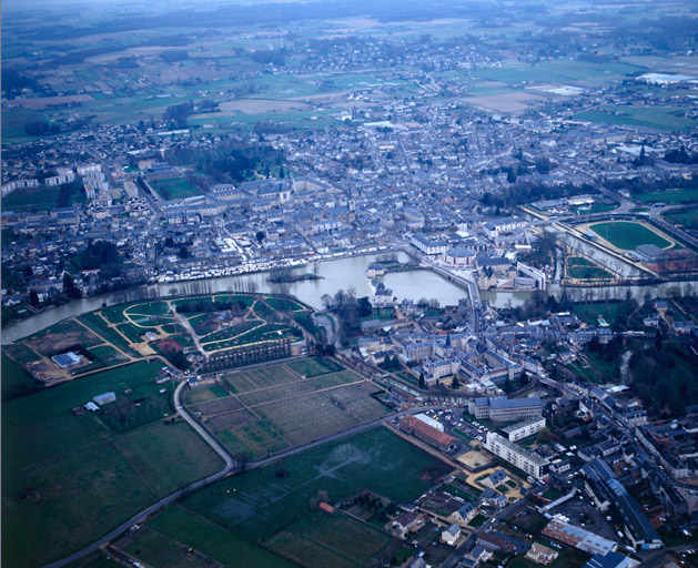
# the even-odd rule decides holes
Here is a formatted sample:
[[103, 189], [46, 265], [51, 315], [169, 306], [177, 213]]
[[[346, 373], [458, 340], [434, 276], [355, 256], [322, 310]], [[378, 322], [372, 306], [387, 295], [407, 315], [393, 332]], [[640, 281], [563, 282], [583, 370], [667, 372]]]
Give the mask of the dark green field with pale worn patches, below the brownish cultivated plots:
[[250, 542], [259, 542], [306, 511], [318, 490], [327, 491], [330, 503], [362, 489], [409, 503], [451, 470], [386, 428], [289, 457], [283, 462], [285, 477], [276, 476], [279, 467], [270, 465], [227, 478], [186, 497], [183, 505]]

